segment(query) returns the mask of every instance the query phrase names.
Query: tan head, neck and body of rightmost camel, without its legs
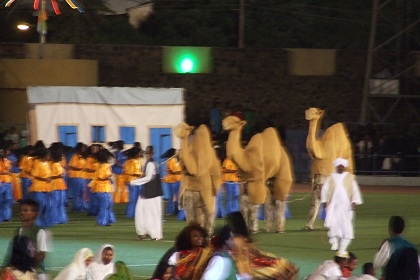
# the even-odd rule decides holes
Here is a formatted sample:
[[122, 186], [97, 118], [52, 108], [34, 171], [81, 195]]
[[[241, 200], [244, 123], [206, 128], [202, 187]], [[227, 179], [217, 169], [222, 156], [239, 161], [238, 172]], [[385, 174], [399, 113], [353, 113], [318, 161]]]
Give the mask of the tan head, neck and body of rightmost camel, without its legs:
[[334, 171], [333, 161], [339, 157], [349, 161], [347, 171], [353, 173], [353, 151], [347, 129], [343, 123], [336, 123], [318, 138], [323, 116], [324, 110], [319, 108], [309, 108], [305, 111], [305, 118], [309, 121], [306, 149], [312, 158], [312, 175], [330, 175]]

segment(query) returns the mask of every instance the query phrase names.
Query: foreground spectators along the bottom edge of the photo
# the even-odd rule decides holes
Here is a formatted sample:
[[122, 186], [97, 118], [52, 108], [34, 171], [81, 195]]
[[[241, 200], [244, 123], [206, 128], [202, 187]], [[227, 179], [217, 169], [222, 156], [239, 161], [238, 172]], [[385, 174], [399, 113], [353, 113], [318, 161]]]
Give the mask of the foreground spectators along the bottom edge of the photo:
[[[20, 203], [22, 224], [16, 229], [0, 269], [2, 280], [47, 279], [45, 259], [47, 233], [35, 225], [38, 203], [24, 199]], [[402, 237], [405, 221], [400, 216], [389, 219], [389, 238], [375, 254], [373, 262], [356, 268], [358, 258], [352, 252], [337, 251], [332, 260], [321, 263], [307, 280], [414, 280], [419, 279], [419, 258], [413, 244]], [[132, 280], [129, 268], [116, 260], [111, 244], [102, 245], [94, 255], [90, 248], [80, 248], [56, 280]], [[381, 272], [380, 272], [381, 270]], [[225, 224], [211, 238], [198, 224], [185, 226], [174, 245], [156, 265], [152, 280], [180, 279], [297, 279], [299, 267], [287, 259], [258, 249], [242, 214], [226, 216]], [[382, 276], [379, 276], [382, 275]]]

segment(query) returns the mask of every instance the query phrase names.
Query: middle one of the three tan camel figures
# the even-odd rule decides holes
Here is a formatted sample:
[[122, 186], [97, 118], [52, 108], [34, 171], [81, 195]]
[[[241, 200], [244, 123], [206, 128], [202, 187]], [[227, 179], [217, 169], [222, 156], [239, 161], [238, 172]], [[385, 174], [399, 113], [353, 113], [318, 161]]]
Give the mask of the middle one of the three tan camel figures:
[[264, 203], [267, 196], [266, 181], [270, 178], [274, 178], [274, 197], [286, 201], [293, 183], [293, 168], [277, 130], [269, 127], [262, 133], [255, 134], [243, 148], [241, 132], [246, 121], [228, 116], [222, 121], [222, 125], [224, 130], [229, 131], [226, 156], [236, 163], [241, 177], [248, 182], [249, 201], [252, 204]]

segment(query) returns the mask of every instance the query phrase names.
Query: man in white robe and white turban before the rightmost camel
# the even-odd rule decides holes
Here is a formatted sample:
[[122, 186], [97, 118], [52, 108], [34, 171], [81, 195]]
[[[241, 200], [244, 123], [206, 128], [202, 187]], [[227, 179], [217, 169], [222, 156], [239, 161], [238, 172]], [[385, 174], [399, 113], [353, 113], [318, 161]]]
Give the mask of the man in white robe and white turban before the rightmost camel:
[[354, 175], [344, 171], [348, 161], [337, 158], [334, 167], [322, 187], [321, 204], [326, 209], [324, 225], [328, 228], [331, 250], [343, 254], [354, 239], [353, 215], [356, 205], [362, 204], [362, 195]]

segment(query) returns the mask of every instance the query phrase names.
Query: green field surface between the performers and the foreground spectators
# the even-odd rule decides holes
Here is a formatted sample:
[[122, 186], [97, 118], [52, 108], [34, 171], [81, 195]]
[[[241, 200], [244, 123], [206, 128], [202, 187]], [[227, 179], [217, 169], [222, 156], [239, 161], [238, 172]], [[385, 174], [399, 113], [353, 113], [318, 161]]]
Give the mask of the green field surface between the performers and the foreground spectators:
[[[319, 230], [305, 232], [309, 209], [309, 196], [304, 194], [290, 196], [289, 209], [291, 219], [287, 220], [286, 233], [265, 233], [253, 235], [254, 241], [262, 250], [269, 251], [294, 262], [300, 267], [299, 279], [310, 273], [316, 266], [333, 256], [329, 250], [327, 234], [323, 221], [318, 220]], [[356, 211], [355, 239], [349, 250], [359, 258], [356, 273], [360, 274], [364, 262], [370, 262], [383, 239], [388, 236], [387, 223], [391, 215], [401, 215], [406, 219], [405, 236], [416, 246], [420, 245], [420, 194], [364, 194], [364, 204]], [[293, 201], [294, 200], [294, 201]], [[164, 239], [160, 241], [136, 241], [134, 221], [124, 217], [124, 205], [116, 205], [117, 223], [111, 227], [96, 227], [95, 219], [85, 213], [71, 213], [70, 222], [50, 228], [53, 233], [52, 252], [47, 256], [47, 269], [55, 276], [60, 268], [68, 264], [74, 253], [89, 247], [94, 252], [104, 243], [116, 248], [116, 260], [126, 262], [134, 279], [147, 279], [155, 264], [164, 252], [173, 244], [176, 234], [185, 226], [185, 222], [174, 217], [165, 217]], [[15, 204], [13, 219], [0, 224], [0, 252], [5, 253], [13, 230], [20, 225], [18, 205]], [[223, 219], [217, 219], [216, 225], [222, 225]], [[263, 229], [263, 222], [260, 222]]]

